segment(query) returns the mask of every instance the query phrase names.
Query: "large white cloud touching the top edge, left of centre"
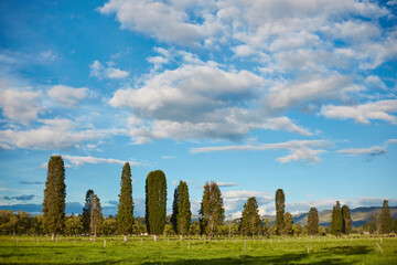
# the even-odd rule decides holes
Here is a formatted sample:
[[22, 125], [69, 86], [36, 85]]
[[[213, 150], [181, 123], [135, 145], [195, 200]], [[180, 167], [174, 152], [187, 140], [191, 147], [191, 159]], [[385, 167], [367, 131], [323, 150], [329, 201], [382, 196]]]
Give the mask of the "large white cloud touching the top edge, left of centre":
[[[207, 2], [210, 3], [210, 1]], [[204, 6], [207, 2], [190, 2], [181, 6], [173, 1], [171, 2], [171, 4], [175, 4], [173, 7], [170, 3], [158, 1], [110, 0], [98, 10], [103, 14], [116, 13], [121, 29], [143, 32], [161, 41], [198, 45], [205, 38], [218, 36], [224, 31], [219, 21], [207, 12], [202, 17], [203, 23], [190, 22], [189, 14], [184, 9], [189, 6]]]

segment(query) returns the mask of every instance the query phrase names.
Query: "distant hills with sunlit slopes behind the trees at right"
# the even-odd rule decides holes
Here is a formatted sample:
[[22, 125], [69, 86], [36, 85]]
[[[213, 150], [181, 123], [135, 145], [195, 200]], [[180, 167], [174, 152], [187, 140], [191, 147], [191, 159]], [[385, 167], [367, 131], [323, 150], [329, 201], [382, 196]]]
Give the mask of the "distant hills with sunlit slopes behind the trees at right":
[[[391, 219], [394, 220], [397, 218], [397, 206], [391, 206], [390, 213]], [[380, 206], [371, 206], [371, 208], [355, 208], [351, 209], [351, 215], [352, 215], [352, 225], [357, 227], [368, 221], [368, 219], [376, 214], [380, 213], [382, 208]], [[305, 225], [308, 223], [308, 214], [309, 213], [300, 213], [292, 215], [293, 223], [300, 223], [302, 225]], [[329, 226], [331, 224], [331, 214], [332, 210], [324, 210], [319, 212], [319, 223], [320, 225], [326, 225]], [[276, 221], [275, 215], [264, 215], [262, 218], [269, 219], [271, 221]]]

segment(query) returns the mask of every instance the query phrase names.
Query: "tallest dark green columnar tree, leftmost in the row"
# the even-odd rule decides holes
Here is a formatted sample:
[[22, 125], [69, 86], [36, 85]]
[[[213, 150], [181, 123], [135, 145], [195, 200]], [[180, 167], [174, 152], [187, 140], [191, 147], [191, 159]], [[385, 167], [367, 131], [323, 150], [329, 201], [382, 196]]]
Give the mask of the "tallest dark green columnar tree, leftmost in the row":
[[49, 161], [47, 178], [45, 181], [43, 218], [44, 225], [55, 240], [56, 233], [61, 232], [65, 222], [65, 167], [61, 156], [52, 156]]

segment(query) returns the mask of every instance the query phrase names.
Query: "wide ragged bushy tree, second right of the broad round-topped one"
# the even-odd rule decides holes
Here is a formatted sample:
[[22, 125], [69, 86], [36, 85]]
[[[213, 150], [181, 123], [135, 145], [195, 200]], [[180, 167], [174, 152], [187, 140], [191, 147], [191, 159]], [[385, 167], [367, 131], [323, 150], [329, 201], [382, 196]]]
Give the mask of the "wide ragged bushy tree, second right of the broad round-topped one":
[[225, 219], [223, 198], [215, 182], [204, 186], [203, 200], [198, 211], [200, 226], [203, 234], [211, 240]]

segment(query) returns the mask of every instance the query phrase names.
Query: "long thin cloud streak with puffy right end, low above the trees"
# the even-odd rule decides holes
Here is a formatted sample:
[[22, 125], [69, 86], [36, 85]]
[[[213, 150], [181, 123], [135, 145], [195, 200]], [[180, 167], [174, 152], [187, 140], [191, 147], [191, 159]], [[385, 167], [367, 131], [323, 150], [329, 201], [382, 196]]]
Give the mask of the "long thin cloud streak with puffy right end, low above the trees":
[[214, 151], [246, 151], [246, 150], [289, 150], [291, 153], [277, 158], [280, 163], [290, 161], [305, 160], [309, 163], [316, 163], [321, 161], [319, 155], [328, 152], [323, 149], [312, 148], [326, 148], [331, 144], [326, 140], [291, 140], [278, 144], [261, 144], [257, 146], [222, 146], [222, 147], [198, 147], [191, 149], [192, 153], [197, 152], [214, 152]]

